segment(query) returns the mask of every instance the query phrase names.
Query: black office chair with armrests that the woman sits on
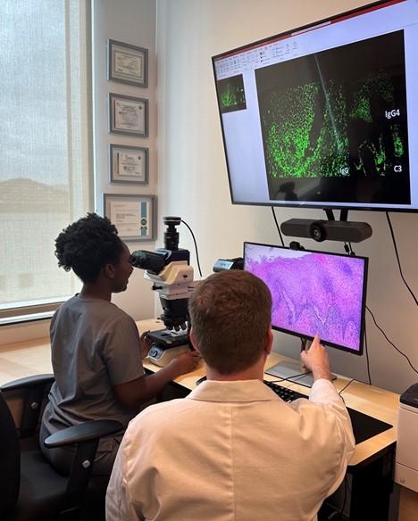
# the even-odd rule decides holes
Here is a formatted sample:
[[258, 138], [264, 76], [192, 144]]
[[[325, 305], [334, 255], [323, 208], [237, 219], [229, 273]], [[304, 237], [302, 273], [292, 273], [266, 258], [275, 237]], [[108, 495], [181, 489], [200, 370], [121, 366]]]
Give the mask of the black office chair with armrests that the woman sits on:
[[[75, 521], [83, 519], [83, 499], [102, 436], [121, 431], [115, 420], [88, 421], [46, 438], [48, 448], [75, 445], [70, 476], [44, 458], [38, 444], [42, 401], [53, 375], [29, 376], [0, 387], [0, 519], [2, 521]], [[23, 395], [21, 425], [16, 427], [5, 392]]]

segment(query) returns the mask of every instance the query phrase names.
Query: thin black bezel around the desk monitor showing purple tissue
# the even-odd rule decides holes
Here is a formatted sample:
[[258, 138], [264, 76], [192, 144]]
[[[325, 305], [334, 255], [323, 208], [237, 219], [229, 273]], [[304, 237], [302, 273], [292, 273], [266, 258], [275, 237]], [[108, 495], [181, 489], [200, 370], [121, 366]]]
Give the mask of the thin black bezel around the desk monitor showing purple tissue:
[[[251, 245], [254, 245], [254, 246], [265, 246], [267, 248], [277, 248], [279, 250], [292, 250], [292, 248], [288, 248], [287, 246], [280, 246], [280, 245], [276, 245], [276, 244], [255, 243], [255, 242], [252, 242], [252, 241], [245, 241], [244, 244], [243, 244], [244, 270], [246, 270], [245, 267], [246, 267], [246, 245], [247, 244], [251, 244]], [[330, 347], [332, 347], [334, 349], [337, 349], [339, 351], [345, 351], [345, 352], [349, 352], [351, 354], [355, 354], [357, 356], [362, 356], [363, 353], [364, 353], [364, 325], [365, 325], [365, 311], [366, 311], [366, 305], [367, 305], [366, 296], [367, 296], [367, 275], [368, 275], [368, 269], [369, 269], [369, 258], [368, 257], [364, 257], [363, 255], [345, 255], [344, 253], [322, 252], [320, 250], [311, 250], [311, 249], [305, 249], [305, 248], [303, 250], [300, 250], [300, 251], [307, 252], [307, 253], [321, 253], [323, 255], [333, 255], [333, 256], [343, 257], [343, 258], [345, 258], [345, 257], [355, 257], [355, 259], [362, 259], [364, 261], [364, 277], [363, 277], [363, 292], [362, 292], [362, 310], [361, 310], [361, 319], [360, 319], [360, 344], [359, 344], [359, 349], [358, 350], [351, 349], [351, 348], [349, 348], [347, 346], [339, 345], [338, 343], [328, 342], [326, 340], [322, 340], [321, 339], [321, 342], [323, 343], [323, 345], [330, 346]], [[249, 273], [251, 273], [251, 272], [249, 272]], [[289, 329], [285, 329], [284, 327], [273, 326], [273, 324], [272, 324], [272, 329], [275, 330], [275, 331], [280, 331], [281, 333], [286, 333], [288, 335], [297, 336], [301, 340], [314, 340], [314, 336], [311, 336], [311, 335], [301, 335], [301, 334], [299, 334], [299, 333], [297, 333], [295, 331], [291, 331]]]

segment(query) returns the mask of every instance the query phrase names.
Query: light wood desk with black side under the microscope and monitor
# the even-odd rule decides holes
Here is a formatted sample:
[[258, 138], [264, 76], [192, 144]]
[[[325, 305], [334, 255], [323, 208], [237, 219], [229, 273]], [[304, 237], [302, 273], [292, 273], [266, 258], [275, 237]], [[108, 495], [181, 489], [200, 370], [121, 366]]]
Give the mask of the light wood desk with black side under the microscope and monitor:
[[[144, 320], [138, 323], [141, 331], [162, 328], [159, 320]], [[0, 385], [15, 378], [52, 372], [48, 338], [0, 346]], [[266, 368], [284, 360], [276, 353], [269, 356]], [[155, 372], [159, 368], [146, 362], [145, 367]], [[205, 375], [202, 363], [193, 373], [176, 378], [176, 383], [191, 390], [196, 379]], [[274, 376], [265, 375], [274, 380]], [[349, 379], [339, 376], [334, 384], [338, 390], [347, 385]], [[309, 389], [294, 383], [282, 382], [299, 393], [308, 394]], [[397, 440], [397, 409], [399, 396], [378, 387], [353, 382], [343, 393], [347, 407], [378, 418], [391, 425], [389, 430], [359, 443], [349, 463], [347, 474], [351, 479], [350, 519], [355, 521], [388, 519], [389, 497], [392, 487], [393, 462]]]

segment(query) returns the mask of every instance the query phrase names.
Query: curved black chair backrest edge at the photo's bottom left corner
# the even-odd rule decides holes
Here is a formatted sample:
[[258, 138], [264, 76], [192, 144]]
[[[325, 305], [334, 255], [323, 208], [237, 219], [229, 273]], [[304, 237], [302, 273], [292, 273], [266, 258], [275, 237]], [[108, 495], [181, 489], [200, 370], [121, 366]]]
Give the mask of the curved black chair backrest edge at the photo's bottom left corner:
[[13, 511], [21, 484], [19, 438], [4, 397], [0, 392], [0, 519]]

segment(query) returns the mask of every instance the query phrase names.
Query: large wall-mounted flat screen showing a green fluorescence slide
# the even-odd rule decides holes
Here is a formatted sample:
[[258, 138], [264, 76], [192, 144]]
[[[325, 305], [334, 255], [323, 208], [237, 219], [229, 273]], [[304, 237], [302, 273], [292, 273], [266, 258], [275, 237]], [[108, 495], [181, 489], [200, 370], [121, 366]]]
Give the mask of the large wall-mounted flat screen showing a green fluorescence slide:
[[218, 54], [232, 203], [418, 211], [418, 2]]

